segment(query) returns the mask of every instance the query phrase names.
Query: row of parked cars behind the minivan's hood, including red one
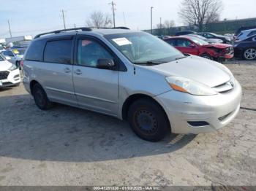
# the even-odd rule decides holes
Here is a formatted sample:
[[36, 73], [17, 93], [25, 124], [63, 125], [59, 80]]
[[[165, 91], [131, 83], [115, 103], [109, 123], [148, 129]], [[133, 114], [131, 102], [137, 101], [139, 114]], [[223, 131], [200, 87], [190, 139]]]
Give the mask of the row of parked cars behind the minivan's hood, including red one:
[[158, 36], [185, 54], [199, 55], [214, 61], [236, 57], [247, 61], [256, 59], [256, 28], [239, 28], [235, 36], [214, 33], [180, 31], [176, 37]]

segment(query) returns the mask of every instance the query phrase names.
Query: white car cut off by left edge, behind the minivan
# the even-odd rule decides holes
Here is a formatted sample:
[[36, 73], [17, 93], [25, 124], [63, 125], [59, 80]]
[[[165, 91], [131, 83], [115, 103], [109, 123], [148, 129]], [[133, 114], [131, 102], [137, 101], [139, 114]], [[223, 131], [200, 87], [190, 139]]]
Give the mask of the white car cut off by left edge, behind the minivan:
[[0, 88], [20, 84], [20, 70], [0, 55]]

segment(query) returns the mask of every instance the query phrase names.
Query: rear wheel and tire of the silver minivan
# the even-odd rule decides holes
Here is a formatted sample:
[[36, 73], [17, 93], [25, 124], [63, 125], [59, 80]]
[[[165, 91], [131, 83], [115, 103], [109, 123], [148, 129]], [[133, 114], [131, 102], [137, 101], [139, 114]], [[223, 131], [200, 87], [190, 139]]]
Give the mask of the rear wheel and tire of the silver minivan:
[[53, 103], [49, 101], [45, 90], [38, 83], [33, 86], [32, 94], [34, 97], [34, 102], [39, 109], [47, 110], [53, 106]]

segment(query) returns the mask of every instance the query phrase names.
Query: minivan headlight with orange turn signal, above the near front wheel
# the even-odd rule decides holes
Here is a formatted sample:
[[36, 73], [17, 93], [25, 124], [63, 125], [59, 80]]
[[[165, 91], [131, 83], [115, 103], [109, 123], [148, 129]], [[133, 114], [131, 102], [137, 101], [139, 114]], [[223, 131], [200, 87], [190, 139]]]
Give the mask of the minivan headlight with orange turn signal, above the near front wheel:
[[195, 82], [191, 79], [187, 79], [184, 77], [166, 77], [165, 78], [173, 88], [173, 90], [189, 93], [192, 95], [216, 95], [217, 93], [208, 87], [207, 85], [203, 85], [199, 82]]

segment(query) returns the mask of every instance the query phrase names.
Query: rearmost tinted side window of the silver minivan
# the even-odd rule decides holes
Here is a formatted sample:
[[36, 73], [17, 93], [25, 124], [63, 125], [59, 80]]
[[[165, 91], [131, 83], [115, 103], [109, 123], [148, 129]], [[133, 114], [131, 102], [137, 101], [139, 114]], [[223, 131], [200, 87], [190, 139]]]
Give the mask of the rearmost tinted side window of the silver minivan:
[[31, 43], [29, 49], [26, 52], [25, 60], [29, 61], [41, 61], [42, 51], [45, 47], [45, 42], [42, 40], [37, 40]]

